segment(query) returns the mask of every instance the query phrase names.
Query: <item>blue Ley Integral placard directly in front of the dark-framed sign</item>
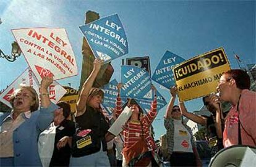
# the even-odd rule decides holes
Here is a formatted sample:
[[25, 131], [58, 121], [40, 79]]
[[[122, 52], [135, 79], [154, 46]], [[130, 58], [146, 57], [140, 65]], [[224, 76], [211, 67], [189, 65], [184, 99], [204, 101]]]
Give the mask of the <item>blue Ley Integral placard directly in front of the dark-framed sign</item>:
[[121, 97], [152, 100], [150, 75], [146, 70], [133, 65], [121, 66]]

